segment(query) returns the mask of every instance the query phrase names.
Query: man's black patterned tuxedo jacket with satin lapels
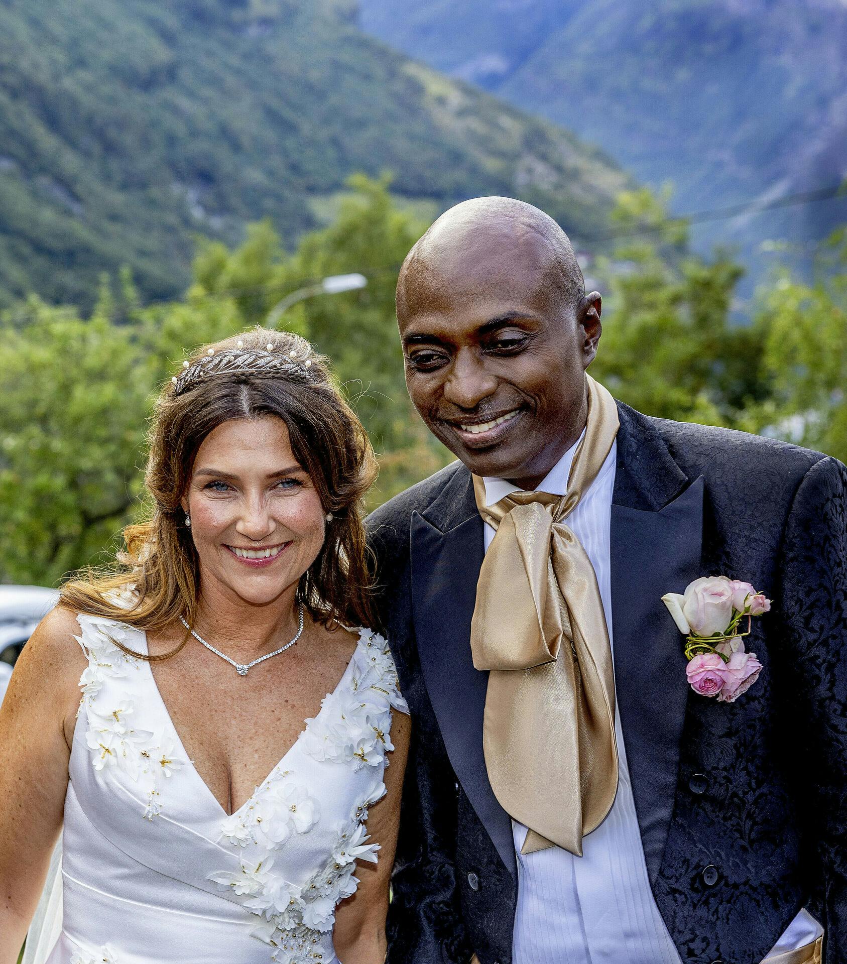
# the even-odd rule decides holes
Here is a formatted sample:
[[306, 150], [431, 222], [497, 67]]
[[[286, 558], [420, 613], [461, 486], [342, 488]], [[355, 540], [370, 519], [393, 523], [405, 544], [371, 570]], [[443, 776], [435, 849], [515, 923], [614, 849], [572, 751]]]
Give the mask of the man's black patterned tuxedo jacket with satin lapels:
[[[847, 469], [619, 403], [611, 517], [618, 707], [653, 894], [683, 961], [757, 964], [804, 905], [847, 962]], [[455, 463], [368, 520], [413, 735], [389, 964], [508, 964], [510, 817], [483, 758], [470, 620], [483, 523]], [[773, 601], [735, 703], [693, 693], [661, 603], [697, 576]], [[624, 962], [622, 962], [624, 964]]]

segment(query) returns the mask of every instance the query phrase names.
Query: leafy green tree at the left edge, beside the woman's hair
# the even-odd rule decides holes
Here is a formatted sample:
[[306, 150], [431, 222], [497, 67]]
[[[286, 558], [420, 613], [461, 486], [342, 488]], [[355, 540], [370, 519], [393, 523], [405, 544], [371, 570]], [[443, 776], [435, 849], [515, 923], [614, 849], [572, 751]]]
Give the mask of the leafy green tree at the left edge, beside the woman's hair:
[[48, 582], [95, 557], [139, 492], [150, 366], [129, 328], [33, 299], [0, 336], [0, 573]]

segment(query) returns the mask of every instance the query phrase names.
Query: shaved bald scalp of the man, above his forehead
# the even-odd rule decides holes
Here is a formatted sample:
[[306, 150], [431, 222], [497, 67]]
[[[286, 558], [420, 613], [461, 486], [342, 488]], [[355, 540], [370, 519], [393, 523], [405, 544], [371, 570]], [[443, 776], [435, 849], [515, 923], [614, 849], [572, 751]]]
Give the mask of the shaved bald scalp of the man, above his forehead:
[[569, 308], [585, 296], [568, 235], [548, 214], [514, 198], [474, 198], [445, 211], [407, 255], [397, 282], [398, 316], [417, 284], [461, 282], [469, 263], [488, 277], [531, 270]]

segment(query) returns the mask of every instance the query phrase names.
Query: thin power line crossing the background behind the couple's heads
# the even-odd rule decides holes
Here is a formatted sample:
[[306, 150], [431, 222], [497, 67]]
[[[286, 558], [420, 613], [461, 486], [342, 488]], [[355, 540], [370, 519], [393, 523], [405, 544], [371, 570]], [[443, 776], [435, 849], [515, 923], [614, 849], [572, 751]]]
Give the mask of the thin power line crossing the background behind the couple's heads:
[[[704, 224], [706, 222], [713, 221], [727, 221], [742, 214], [759, 214], [764, 211], [775, 210], [783, 207], [801, 207], [807, 204], [819, 203], [821, 201], [837, 201], [839, 199], [847, 200], [847, 181], [840, 184], [830, 185], [829, 187], [817, 188], [811, 191], [801, 191], [794, 194], [781, 195], [781, 197], [773, 198], [770, 201], [744, 201], [738, 204], [728, 204], [724, 207], [714, 207], [702, 211], [695, 211], [692, 214], [675, 215], [674, 217], [666, 218], [659, 225], [632, 228], [631, 230], [626, 231], [613, 231], [607, 234], [584, 235], [580, 238], [580, 240], [590, 244], [616, 241], [622, 238], [659, 234], [663, 231], [671, 230], [673, 228], [686, 227], [693, 224]], [[818, 244], [820, 244], [820, 242], [818, 242]], [[401, 263], [402, 262], [397, 262], [391, 265], [383, 265], [380, 267], [365, 269], [360, 271], [360, 274], [364, 275], [368, 281], [373, 281], [377, 278], [384, 277], [385, 275], [397, 274], [400, 271]], [[178, 301], [173, 298], [158, 298], [147, 302], [145, 305], [127, 308], [124, 311], [116, 311], [112, 314], [107, 314], [105, 317], [109, 321], [127, 322], [126, 314], [131, 314], [133, 311], [145, 311], [149, 308], [165, 308], [171, 305], [183, 305], [186, 303], [196, 304], [197, 302], [202, 303], [223, 301], [230, 298], [250, 298], [275, 293], [286, 294], [289, 291], [294, 290], [295, 287], [308, 284], [317, 284], [320, 281], [321, 279], [315, 276], [302, 276], [288, 278], [284, 284], [258, 284], [252, 286], [223, 288], [217, 291], [206, 291], [202, 294], [193, 295], [188, 302], [186, 302], [185, 296], [183, 296], [183, 301]], [[63, 307], [67, 308], [68, 312], [75, 310], [73, 306], [47, 306], [47, 308], [52, 308], [54, 310], [56, 308]], [[55, 317], [42, 319], [38, 316], [34, 309], [25, 306], [20, 306], [20, 308], [12, 308], [10, 311], [13, 315], [17, 315], [17, 318], [20, 318], [21, 321], [23, 321], [25, 318], [28, 319], [28, 321], [23, 324], [16, 324], [15, 322], [17, 321], [17, 318], [13, 317], [13, 327], [17, 329], [38, 325], [50, 325], [57, 320]], [[70, 319], [68, 318], [68, 320]]]

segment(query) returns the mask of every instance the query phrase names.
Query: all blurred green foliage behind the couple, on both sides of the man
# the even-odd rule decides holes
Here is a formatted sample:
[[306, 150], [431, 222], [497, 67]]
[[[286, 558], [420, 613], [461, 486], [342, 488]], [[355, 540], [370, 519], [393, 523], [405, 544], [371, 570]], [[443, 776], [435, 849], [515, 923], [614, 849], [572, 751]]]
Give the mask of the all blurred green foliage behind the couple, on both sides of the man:
[[[591, 274], [606, 292], [593, 374], [649, 415], [761, 432], [847, 457], [847, 231], [815, 281], [790, 273], [733, 311], [741, 271], [691, 254], [661, 198], [622, 195], [619, 247]], [[155, 390], [199, 344], [266, 320], [287, 294], [362, 271], [368, 285], [310, 298], [284, 327], [331, 357], [381, 463], [371, 504], [450, 458], [411, 409], [394, 319], [397, 269], [427, 227], [387, 178], [352, 178], [335, 220], [286, 253], [269, 222], [239, 247], [203, 241], [184, 299], [141, 307], [128, 272], [102, 281], [90, 317], [37, 298], [0, 316], [0, 581], [54, 583], [114, 550], [141, 511]]]

